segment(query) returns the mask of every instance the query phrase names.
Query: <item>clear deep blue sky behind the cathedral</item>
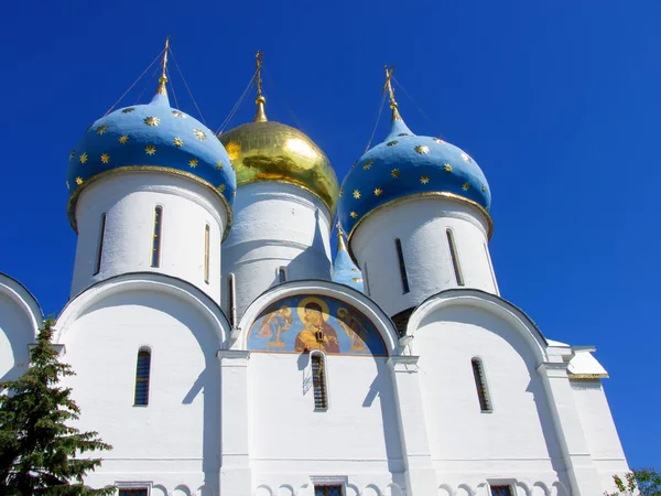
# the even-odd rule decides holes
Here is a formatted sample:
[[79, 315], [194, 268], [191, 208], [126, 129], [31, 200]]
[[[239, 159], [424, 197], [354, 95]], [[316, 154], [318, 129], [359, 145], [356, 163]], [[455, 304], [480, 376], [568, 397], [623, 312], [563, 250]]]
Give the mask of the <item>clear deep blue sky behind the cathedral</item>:
[[597, 346], [631, 466], [661, 468], [659, 25], [661, 2], [646, 0], [7, 2], [0, 271], [46, 313], [66, 303], [68, 153], [165, 35], [213, 129], [263, 51], [269, 117], [295, 125], [292, 109], [340, 180], [394, 64], [414, 100], [398, 90], [409, 127], [463, 148], [489, 180], [502, 296], [548, 337]]

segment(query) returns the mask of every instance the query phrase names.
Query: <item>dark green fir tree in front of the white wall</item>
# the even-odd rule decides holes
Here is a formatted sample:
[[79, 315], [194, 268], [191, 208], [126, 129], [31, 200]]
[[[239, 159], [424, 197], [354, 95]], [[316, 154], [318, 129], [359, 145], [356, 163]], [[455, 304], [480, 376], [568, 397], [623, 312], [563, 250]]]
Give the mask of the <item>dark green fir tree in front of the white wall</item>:
[[97, 432], [71, 427], [80, 410], [71, 388], [58, 386], [75, 373], [59, 363], [52, 346], [52, 319], [39, 333], [30, 352], [28, 371], [17, 380], [0, 382], [0, 495], [111, 495], [113, 487], [90, 489], [84, 476], [101, 459], [84, 453], [110, 450]]

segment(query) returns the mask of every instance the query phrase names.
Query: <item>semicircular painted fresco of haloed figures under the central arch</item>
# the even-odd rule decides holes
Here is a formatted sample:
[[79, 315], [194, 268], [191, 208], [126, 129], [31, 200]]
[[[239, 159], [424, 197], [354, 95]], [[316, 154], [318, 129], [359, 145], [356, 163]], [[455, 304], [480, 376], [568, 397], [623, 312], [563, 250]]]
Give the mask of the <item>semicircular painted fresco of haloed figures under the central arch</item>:
[[253, 352], [384, 356], [381, 335], [354, 306], [328, 296], [290, 296], [269, 305], [248, 334]]

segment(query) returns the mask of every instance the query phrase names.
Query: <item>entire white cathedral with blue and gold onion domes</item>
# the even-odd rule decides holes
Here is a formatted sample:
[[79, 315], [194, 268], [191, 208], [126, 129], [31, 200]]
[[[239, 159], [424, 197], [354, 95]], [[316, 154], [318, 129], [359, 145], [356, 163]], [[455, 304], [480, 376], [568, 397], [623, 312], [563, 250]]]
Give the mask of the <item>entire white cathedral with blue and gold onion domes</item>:
[[[68, 158], [55, 345], [121, 496], [598, 496], [628, 471], [594, 347], [502, 299], [477, 163], [404, 123], [342, 187], [303, 132], [117, 109]], [[338, 249], [330, 237], [338, 226]], [[346, 238], [346, 240], [345, 240]], [[43, 315], [0, 274], [0, 379]], [[97, 455], [97, 453], [93, 453]]]

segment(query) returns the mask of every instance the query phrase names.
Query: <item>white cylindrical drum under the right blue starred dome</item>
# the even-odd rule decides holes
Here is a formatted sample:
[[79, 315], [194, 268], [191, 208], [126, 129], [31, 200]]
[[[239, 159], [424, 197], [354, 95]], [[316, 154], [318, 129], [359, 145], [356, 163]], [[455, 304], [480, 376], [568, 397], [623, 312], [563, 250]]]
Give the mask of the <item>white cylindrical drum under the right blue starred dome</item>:
[[[438, 291], [458, 287], [446, 229], [454, 235], [464, 287], [498, 294], [484, 214], [449, 198], [411, 198], [372, 213], [350, 239], [362, 273], [368, 267], [368, 294], [389, 315], [416, 306]], [[402, 289], [397, 238], [402, 244], [409, 293]]]

